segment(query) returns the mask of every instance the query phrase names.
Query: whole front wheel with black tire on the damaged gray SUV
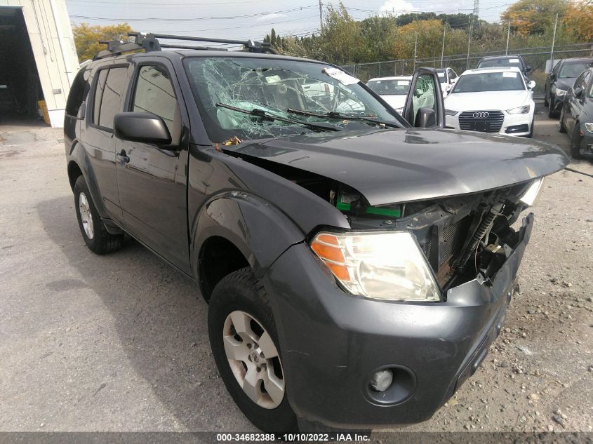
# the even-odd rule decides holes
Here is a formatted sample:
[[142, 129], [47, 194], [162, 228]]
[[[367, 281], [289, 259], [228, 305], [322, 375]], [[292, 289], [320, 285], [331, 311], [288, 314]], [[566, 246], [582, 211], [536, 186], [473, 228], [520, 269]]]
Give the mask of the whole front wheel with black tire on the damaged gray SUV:
[[241, 412], [262, 431], [298, 431], [272, 310], [251, 269], [233, 271], [215, 286], [208, 336], [218, 372]]

